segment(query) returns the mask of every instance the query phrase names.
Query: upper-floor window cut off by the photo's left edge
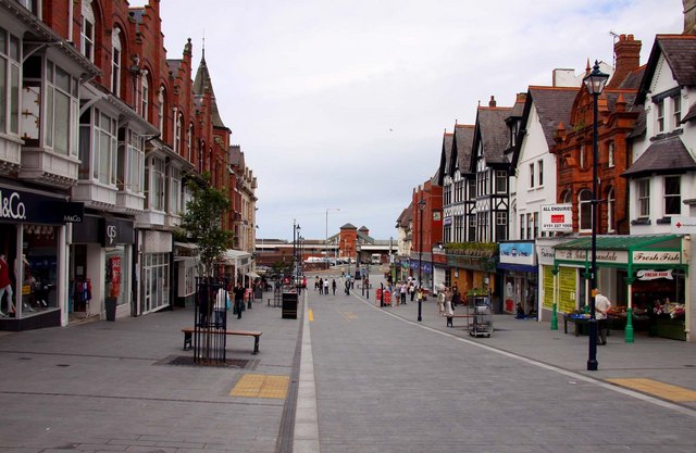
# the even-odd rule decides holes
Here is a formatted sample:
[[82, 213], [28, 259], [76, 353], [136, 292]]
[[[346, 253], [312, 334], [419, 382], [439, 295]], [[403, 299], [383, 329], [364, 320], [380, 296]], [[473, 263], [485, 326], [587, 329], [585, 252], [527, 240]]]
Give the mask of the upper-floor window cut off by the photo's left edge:
[[0, 133], [20, 134], [20, 38], [0, 27]]

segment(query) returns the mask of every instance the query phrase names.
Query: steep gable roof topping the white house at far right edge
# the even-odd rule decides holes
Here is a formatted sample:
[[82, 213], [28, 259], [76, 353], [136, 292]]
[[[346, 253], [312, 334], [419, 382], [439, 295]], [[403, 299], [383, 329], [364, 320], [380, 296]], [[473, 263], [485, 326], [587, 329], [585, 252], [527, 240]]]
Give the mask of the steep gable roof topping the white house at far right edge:
[[657, 35], [636, 103], [644, 103], [645, 97], [650, 91], [660, 54], [664, 55], [670, 70], [672, 70], [672, 75], [680, 86], [696, 85], [696, 35]]

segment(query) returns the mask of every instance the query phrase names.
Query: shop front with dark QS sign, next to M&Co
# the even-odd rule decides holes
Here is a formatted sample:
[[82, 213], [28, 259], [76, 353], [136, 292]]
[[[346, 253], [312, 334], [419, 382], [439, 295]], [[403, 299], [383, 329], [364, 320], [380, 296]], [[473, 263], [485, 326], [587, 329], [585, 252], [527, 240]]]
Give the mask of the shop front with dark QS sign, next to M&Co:
[[86, 214], [73, 228], [69, 313], [72, 319], [132, 314], [133, 219]]

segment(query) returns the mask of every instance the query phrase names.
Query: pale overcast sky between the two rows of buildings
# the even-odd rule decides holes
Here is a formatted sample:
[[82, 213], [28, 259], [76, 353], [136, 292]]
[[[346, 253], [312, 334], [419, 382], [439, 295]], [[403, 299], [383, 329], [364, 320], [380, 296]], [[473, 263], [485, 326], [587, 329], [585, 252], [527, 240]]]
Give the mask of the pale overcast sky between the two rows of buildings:
[[[146, 0], [132, 0], [142, 5]], [[167, 58], [187, 38], [258, 178], [258, 238], [351, 223], [396, 238], [445, 129], [509, 106], [557, 67], [613, 61], [616, 34], [681, 33], [681, 0], [162, 0]]]

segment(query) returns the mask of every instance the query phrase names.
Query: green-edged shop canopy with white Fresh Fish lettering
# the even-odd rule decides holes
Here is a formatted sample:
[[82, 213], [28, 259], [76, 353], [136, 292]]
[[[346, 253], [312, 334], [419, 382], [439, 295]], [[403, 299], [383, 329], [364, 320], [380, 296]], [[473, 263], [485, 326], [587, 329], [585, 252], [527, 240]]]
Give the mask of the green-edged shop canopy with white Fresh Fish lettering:
[[[583, 237], [554, 248], [554, 265], [581, 265], [592, 260], [592, 237]], [[682, 236], [598, 236], [597, 267], [619, 267], [633, 272], [646, 268], [685, 268]]]

